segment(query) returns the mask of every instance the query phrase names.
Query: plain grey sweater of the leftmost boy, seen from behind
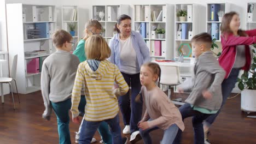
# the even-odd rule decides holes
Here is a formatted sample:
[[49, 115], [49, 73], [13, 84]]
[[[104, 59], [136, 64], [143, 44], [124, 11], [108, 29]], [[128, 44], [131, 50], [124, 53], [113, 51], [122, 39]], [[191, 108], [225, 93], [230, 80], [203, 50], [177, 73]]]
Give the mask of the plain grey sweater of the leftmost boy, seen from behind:
[[41, 74], [41, 91], [45, 106], [43, 118], [50, 119], [50, 101], [57, 103], [71, 98], [79, 63], [77, 56], [63, 50], [57, 50], [44, 60]]

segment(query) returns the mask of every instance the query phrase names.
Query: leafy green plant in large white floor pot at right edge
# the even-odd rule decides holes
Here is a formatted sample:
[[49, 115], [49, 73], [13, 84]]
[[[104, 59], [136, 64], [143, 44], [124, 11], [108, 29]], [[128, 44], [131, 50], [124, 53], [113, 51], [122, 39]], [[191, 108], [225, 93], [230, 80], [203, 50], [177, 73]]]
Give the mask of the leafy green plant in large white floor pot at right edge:
[[[256, 48], [256, 45], [253, 45]], [[252, 50], [253, 59], [251, 68], [243, 71], [240, 78], [237, 78], [238, 88], [241, 92], [241, 110], [256, 112], [256, 53]]]

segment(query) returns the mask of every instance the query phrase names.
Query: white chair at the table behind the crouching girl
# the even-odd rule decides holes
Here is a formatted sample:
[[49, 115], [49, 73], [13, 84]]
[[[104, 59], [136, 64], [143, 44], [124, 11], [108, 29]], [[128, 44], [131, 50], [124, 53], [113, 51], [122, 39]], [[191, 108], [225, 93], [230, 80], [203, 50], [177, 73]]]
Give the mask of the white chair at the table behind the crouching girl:
[[[181, 76], [179, 74], [179, 67], [177, 65], [159, 65], [161, 68], [161, 85], [168, 86], [168, 98], [171, 99], [171, 86], [177, 86], [181, 84]], [[181, 103], [182, 99], [174, 99], [172, 102], [177, 105], [184, 105]]]

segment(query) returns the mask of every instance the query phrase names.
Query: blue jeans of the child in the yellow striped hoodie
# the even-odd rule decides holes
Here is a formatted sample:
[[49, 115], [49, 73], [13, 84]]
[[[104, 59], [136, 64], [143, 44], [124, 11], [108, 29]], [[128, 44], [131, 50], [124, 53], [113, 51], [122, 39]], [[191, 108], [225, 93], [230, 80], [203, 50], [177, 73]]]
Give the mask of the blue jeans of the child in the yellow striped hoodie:
[[[108, 123], [110, 127], [110, 131], [112, 134], [112, 141], [113, 143], [120, 144], [122, 143], [122, 137], [121, 137], [121, 128], [119, 125], [119, 116], [115, 116], [112, 119], [106, 119], [105, 122]], [[102, 123], [100, 122], [90, 122], [86, 121], [84, 119], [84, 122], [82, 124], [82, 129], [80, 132], [80, 137], [79, 137], [79, 144], [89, 144], [91, 143], [91, 139], [95, 134], [95, 131], [97, 130], [98, 126]]]

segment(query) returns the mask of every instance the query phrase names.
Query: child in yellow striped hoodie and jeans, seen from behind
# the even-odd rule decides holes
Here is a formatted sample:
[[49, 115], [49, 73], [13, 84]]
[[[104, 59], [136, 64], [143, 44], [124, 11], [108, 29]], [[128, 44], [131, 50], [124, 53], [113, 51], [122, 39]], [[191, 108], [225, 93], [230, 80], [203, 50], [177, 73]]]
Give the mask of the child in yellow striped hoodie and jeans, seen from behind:
[[88, 38], [85, 53], [87, 60], [78, 66], [72, 91], [72, 118], [74, 123], [79, 123], [78, 105], [84, 82], [87, 104], [79, 143], [90, 143], [98, 125], [105, 121], [111, 128], [113, 142], [120, 144], [122, 139], [117, 96], [126, 94], [129, 87], [118, 67], [106, 60], [111, 52], [100, 35]]

